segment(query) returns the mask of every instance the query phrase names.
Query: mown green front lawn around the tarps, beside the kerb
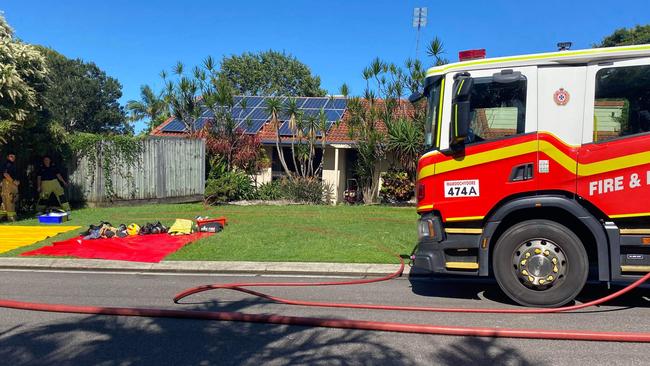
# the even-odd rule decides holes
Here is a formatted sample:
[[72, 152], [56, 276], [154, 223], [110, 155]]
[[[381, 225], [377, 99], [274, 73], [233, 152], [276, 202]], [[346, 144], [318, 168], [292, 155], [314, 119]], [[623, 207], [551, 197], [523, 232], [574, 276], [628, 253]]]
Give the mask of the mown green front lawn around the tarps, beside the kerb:
[[[226, 216], [226, 229], [171, 254], [166, 260], [302, 261], [394, 263], [378, 249], [384, 246], [410, 254], [416, 242], [414, 208], [388, 206], [213, 206], [201, 204], [144, 205], [81, 209], [66, 225], [87, 227], [109, 221], [113, 225], [176, 218]], [[24, 220], [18, 225], [38, 225]], [[8, 224], [3, 224], [8, 225]], [[0, 225], [0, 230], [2, 225]], [[61, 234], [37, 244], [0, 254], [17, 256], [54, 240], [78, 235]]]

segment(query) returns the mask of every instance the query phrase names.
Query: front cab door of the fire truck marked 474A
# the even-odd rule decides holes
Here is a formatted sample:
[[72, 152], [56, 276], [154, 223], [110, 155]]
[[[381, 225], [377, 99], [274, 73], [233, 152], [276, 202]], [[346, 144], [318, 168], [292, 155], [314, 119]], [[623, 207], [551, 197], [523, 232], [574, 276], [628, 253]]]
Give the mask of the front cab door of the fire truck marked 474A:
[[[451, 73], [447, 80], [434, 207], [445, 222], [478, 221], [502, 199], [536, 189], [537, 68]], [[463, 85], [471, 87], [463, 91]], [[471, 121], [462, 147], [454, 148], [449, 121], [459, 91], [469, 93]]]

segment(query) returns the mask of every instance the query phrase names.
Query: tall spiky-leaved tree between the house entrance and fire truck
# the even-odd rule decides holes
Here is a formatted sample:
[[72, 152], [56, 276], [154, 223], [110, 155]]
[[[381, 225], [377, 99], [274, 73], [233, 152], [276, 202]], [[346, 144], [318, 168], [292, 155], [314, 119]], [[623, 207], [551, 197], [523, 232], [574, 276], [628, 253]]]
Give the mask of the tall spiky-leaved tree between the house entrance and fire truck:
[[[350, 136], [357, 143], [355, 170], [366, 203], [376, 202], [379, 188], [379, 162], [395, 156], [400, 168], [415, 179], [416, 163], [424, 148], [426, 101], [414, 106], [404, 101], [407, 91], [421, 88], [425, 71], [419, 60], [407, 60], [405, 67], [375, 58], [363, 70], [364, 97], [348, 103]], [[342, 90], [348, 92], [347, 87]], [[380, 128], [382, 121], [388, 133]]]

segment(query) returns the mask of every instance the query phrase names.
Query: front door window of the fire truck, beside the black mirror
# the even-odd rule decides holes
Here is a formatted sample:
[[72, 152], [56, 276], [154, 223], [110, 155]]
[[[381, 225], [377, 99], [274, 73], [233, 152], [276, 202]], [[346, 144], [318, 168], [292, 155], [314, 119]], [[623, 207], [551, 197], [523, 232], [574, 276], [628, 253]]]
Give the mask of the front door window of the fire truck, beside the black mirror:
[[470, 96], [470, 133], [465, 143], [494, 140], [524, 133], [526, 77], [499, 83], [492, 77], [475, 78]]

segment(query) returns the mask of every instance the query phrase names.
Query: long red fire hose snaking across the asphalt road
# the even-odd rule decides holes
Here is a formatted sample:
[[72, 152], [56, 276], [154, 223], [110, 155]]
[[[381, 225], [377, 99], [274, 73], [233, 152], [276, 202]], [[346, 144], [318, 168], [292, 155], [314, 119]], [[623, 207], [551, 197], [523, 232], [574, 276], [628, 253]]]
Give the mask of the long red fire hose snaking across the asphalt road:
[[[394, 273], [372, 279], [360, 279], [351, 281], [332, 282], [250, 282], [213, 284], [197, 286], [187, 289], [174, 297], [178, 303], [183, 298], [210, 290], [233, 290], [249, 295], [257, 296], [280, 304], [298, 306], [317, 306], [330, 308], [349, 309], [370, 309], [389, 311], [421, 311], [421, 312], [453, 312], [453, 313], [499, 313], [499, 314], [547, 314], [561, 313], [597, 306], [612, 299], [615, 299], [646, 282], [650, 279], [650, 273], [636, 280], [627, 287], [616, 291], [603, 298], [589, 301], [579, 305], [565, 306], [560, 308], [525, 308], [525, 309], [459, 309], [442, 307], [420, 307], [420, 306], [391, 306], [373, 304], [346, 304], [332, 302], [314, 302], [291, 300], [281, 297], [267, 295], [258, 291], [250, 290], [250, 287], [307, 287], [307, 286], [345, 286], [376, 283], [396, 278], [404, 271], [404, 261], [400, 258], [400, 267]], [[32, 310], [56, 313], [93, 314], [93, 315], [114, 315], [114, 316], [137, 316], [155, 318], [180, 318], [180, 319], [202, 319], [217, 321], [249, 322], [263, 324], [281, 324], [321, 328], [338, 328], [354, 330], [374, 330], [401, 333], [420, 333], [435, 335], [453, 336], [475, 336], [475, 337], [500, 337], [500, 338], [527, 338], [527, 339], [548, 339], [548, 340], [581, 340], [601, 342], [643, 342], [650, 343], [650, 333], [644, 332], [606, 332], [588, 330], [546, 330], [546, 329], [516, 329], [516, 328], [486, 328], [486, 327], [463, 327], [463, 326], [441, 326], [427, 324], [409, 324], [396, 322], [381, 322], [367, 320], [328, 319], [297, 317], [286, 315], [269, 314], [245, 314], [242, 312], [222, 312], [204, 310], [172, 310], [161, 308], [135, 308], [135, 307], [104, 307], [104, 306], [81, 306], [68, 304], [45, 304], [35, 302], [24, 302], [0, 299], [0, 307]]]

